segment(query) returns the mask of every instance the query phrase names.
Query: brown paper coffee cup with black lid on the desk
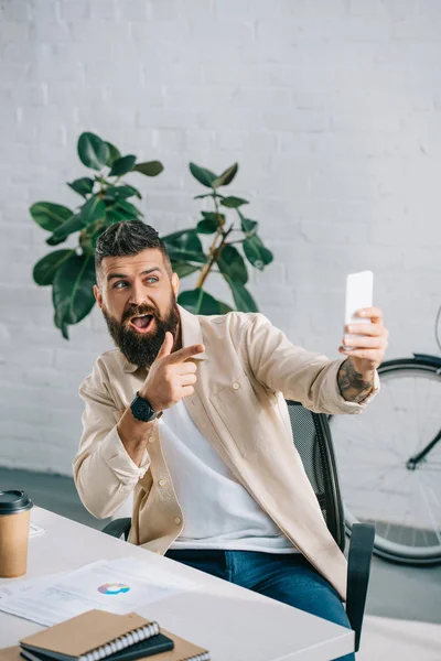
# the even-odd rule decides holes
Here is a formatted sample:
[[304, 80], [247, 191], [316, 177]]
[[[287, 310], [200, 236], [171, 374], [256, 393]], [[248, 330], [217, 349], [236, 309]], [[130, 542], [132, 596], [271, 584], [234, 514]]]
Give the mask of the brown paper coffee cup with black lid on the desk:
[[23, 576], [28, 566], [32, 500], [24, 491], [0, 491], [0, 576]]

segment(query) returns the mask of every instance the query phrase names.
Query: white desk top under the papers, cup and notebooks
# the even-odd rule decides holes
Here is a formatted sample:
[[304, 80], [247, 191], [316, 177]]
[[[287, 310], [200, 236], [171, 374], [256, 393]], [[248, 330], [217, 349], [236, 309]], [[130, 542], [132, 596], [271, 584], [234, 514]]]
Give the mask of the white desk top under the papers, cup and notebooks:
[[[32, 520], [45, 533], [30, 539], [33, 578], [77, 568], [100, 559], [133, 556], [186, 576], [200, 587], [154, 602], [138, 611], [212, 652], [213, 661], [330, 661], [354, 650], [353, 631], [214, 578], [41, 508]], [[8, 579], [2, 578], [0, 583]], [[9, 579], [20, 581], [20, 578]], [[42, 627], [0, 611], [0, 647]]]

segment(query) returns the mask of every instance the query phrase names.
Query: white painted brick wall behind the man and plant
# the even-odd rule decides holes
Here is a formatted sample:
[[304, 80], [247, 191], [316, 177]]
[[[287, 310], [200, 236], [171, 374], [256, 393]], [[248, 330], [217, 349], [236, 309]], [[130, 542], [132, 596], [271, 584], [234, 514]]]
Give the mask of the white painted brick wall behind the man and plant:
[[137, 181], [162, 232], [197, 219], [190, 160], [240, 163], [276, 256], [251, 289], [293, 342], [336, 357], [345, 274], [372, 268], [389, 356], [434, 351], [440, 62], [434, 0], [3, 0], [0, 464], [71, 473], [77, 387], [110, 346], [96, 311], [63, 340], [31, 277], [28, 208], [77, 202], [84, 130], [163, 160]]

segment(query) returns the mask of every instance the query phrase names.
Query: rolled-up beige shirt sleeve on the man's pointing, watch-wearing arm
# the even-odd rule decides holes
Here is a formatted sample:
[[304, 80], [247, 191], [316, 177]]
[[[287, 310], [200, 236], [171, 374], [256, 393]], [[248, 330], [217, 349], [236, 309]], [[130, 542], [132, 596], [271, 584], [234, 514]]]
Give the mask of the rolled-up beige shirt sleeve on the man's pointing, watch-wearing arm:
[[[97, 369], [96, 367], [94, 369]], [[88, 511], [104, 519], [110, 517], [127, 499], [150, 465], [144, 452], [140, 466], [127, 453], [118, 434], [119, 411], [108, 393], [98, 390], [94, 372], [79, 388], [85, 402], [83, 435], [73, 462], [74, 479]]]

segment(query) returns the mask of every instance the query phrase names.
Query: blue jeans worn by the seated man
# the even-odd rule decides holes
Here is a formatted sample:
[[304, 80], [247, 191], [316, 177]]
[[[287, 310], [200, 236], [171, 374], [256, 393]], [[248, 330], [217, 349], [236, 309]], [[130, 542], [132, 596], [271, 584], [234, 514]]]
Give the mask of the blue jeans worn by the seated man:
[[[338, 594], [300, 553], [170, 550], [166, 557], [351, 628]], [[355, 661], [355, 654], [338, 661]]]

